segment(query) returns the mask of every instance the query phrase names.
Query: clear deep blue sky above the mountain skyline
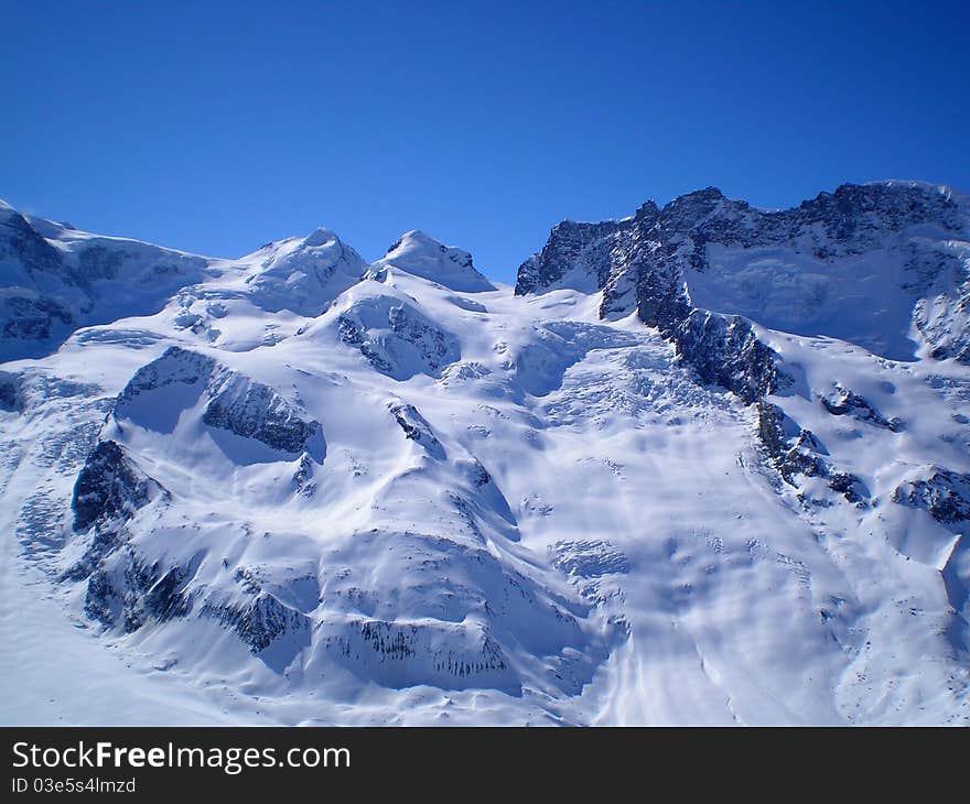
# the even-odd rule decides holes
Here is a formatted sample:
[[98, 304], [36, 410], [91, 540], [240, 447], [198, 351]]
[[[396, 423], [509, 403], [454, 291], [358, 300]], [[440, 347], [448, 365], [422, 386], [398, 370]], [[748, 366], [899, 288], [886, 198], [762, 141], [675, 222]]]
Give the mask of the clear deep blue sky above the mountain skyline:
[[716, 185], [970, 191], [963, 2], [0, 0], [0, 197], [214, 256], [425, 229], [509, 281]]

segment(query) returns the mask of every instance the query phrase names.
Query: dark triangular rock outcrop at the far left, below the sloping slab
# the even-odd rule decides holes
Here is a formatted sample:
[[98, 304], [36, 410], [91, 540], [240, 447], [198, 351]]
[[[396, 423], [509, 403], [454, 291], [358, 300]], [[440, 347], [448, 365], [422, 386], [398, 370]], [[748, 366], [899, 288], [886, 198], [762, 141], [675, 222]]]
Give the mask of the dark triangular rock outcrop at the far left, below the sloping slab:
[[162, 487], [136, 469], [115, 442], [99, 442], [74, 485], [74, 530], [85, 531], [111, 519], [131, 519], [161, 492]]

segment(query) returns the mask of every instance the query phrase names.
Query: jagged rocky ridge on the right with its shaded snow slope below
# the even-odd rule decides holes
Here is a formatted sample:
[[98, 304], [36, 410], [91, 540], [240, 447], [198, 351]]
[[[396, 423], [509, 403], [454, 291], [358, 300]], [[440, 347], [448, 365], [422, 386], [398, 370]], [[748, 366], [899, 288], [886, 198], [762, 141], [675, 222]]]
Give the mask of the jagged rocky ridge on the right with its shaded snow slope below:
[[[838, 337], [848, 325], [855, 340], [895, 358], [913, 356], [913, 344], [896, 348], [912, 318], [934, 357], [970, 361], [966, 238], [966, 202], [947, 188], [847, 184], [794, 209], [764, 211], [709, 187], [662, 208], [647, 202], [623, 220], [563, 221], [519, 268], [516, 293], [592, 282], [603, 291], [601, 316], [636, 309], [702, 376], [751, 401], [778, 382], [769, 356], [746, 322], [711, 312], [767, 326], [785, 319], [794, 326], [779, 328], [810, 335]], [[902, 319], [879, 317], [887, 283], [904, 296], [891, 311]], [[872, 320], [860, 323], [865, 317]]]

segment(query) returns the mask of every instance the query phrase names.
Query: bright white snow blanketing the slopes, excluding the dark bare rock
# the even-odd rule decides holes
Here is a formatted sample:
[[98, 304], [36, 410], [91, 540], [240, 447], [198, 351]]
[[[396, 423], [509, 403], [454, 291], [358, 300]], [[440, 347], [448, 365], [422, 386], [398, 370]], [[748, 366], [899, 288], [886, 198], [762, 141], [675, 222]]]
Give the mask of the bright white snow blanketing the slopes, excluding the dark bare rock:
[[[689, 280], [758, 322], [796, 380], [770, 401], [862, 508], [782, 482], [754, 408], [635, 315], [602, 320], [599, 293], [515, 296], [419, 231], [369, 268], [326, 229], [185, 258], [197, 274], [158, 308], [2, 366], [24, 409], [0, 410], [0, 721], [970, 722], [970, 552], [891, 499], [925, 467], [970, 471], [970, 370], [918, 354], [883, 257], [847, 275], [725, 251]], [[116, 408], [172, 346], [218, 366], [247, 420], [284, 405], [325, 448], [207, 424], [225, 385], [184, 363]], [[837, 387], [903, 426], [829, 413]], [[188, 616], [103, 626], [64, 578], [90, 546], [69, 506], [97, 438], [168, 491], [128, 548], [191, 569]], [[290, 623], [257, 651], [225, 613], [252, 606]]]

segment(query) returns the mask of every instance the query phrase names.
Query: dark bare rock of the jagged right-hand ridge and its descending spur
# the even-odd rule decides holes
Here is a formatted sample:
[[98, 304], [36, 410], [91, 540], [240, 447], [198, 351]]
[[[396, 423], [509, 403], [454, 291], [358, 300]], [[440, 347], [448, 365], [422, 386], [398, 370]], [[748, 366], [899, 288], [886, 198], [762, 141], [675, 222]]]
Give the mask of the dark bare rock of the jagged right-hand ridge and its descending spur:
[[[784, 388], [787, 378], [772, 350], [757, 341], [743, 319], [691, 304], [685, 271], [709, 269], [708, 246], [778, 246], [828, 260], [863, 253], [880, 247], [887, 235], [924, 224], [960, 232], [957, 203], [948, 194], [915, 184], [845, 184], [793, 209], [762, 211], [708, 187], [662, 209], [648, 202], [623, 220], [558, 225], [542, 251], [522, 263], [516, 293], [554, 286], [586, 290], [584, 283], [592, 282], [593, 290], [603, 291], [602, 316], [635, 308], [645, 324], [676, 345], [702, 379], [753, 402]], [[923, 257], [914, 251], [912, 260]], [[941, 254], [939, 260], [956, 265], [957, 258]], [[923, 269], [936, 276], [944, 267]], [[946, 300], [950, 307], [962, 304], [963, 314], [970, 304], [970, 278], [964, 285], [966, 300]], [[939, 305], [925, 307], [922, 314], [917, 309], [917, 326], [938, 344], [938, 356], [970, 359], [970, 335], [952, 333], [953, 312], [941, 315]]]

